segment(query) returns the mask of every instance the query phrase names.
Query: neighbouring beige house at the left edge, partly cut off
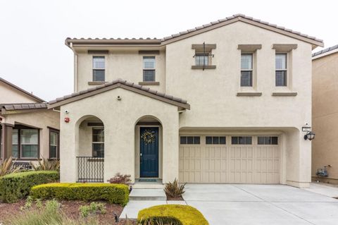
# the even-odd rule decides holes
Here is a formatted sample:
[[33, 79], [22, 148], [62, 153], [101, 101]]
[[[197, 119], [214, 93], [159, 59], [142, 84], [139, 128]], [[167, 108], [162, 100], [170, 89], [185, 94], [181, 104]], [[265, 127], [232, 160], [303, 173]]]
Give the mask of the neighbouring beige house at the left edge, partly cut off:
[[1, 159], [57, 158], [60, 113], [43, 99], [0, 78]]

